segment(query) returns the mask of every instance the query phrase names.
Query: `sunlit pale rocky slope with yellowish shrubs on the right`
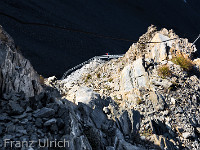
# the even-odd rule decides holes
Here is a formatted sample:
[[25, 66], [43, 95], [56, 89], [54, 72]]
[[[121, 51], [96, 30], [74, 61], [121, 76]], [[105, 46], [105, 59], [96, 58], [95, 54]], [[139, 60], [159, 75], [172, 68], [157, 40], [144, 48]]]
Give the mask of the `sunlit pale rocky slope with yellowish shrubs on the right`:
[[[124, 57], [98, 66], [91, 62], [65, 80], [51, 77], [45, 84], [75, 104], [111, 99], [115, 105], [103, 110], [113, 120], [138, 111], [139, 135], [162, 149], [199, 149], [200, 59], [193, 58], [196, 51], [173, 30], [157, 31], [150, 26]], [[121, 129], [132, 140], [132, 128]]]

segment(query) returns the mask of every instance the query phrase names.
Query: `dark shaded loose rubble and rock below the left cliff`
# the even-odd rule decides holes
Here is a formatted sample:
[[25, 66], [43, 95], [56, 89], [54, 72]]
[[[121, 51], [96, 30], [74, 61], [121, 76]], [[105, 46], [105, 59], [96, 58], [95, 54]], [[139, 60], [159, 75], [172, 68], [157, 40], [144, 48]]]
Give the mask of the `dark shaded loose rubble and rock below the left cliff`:
[[[19, 95], [16, 93], [15, 95]], [[108, 119], [103, 112], [101, 104], [96, 103], [92, 109], [89, 105], [79, 103], [75, 105], [65, 99], [56, 100], [52, 97], [49, 91], [37, 96], [35, 105], [26, 104], [24, 108], [24, 99], [10, 100], [11, 95], [4, 96], [1, 100], [0, 108], [0, 137], [1, 143], [5, 139], [15, 141], [36, 141], [34, 149], [40, 149], [40, 140], [66, 140], [69, 142], [70, 150], [142, 150], [141, 146], [134, 146], [135, 141], [127, 138], [127, 135], [132, 134], [132, 126], [134, 130], [134, 122], [140, 118], [137, 112], [133, 111], [131, 118], [128, 112], [125, 112], [120, 117], [120, 126], [117, 121]], [[7, 98], [7, 99], [6, 99]], [[50, 103], [48, 99], [54, 99]], [[99, 100], [97, 100], [99, 101]], [[105, 100], [101, 100], [105, 101]], [[41, 103], [46, 107], [41, 107]], [[94, 102], [95, 103], [95, 102]], [[100, 106], [98, 106], [99, 104]], [[8, 107], [6, 107], [8, 105]], [[9, 113], [10, 112], [10, 113]], [[133, 125], [132, 125], [133, 123]], [[132, 138], [136, 134], [132, 135]], [[129, 139], [129, 141], [128, 141]], [[55, 149], [55, 145], [52, 148]], [[0, 145], [0, 149], [12, 149], [9, 144], [5, 148]]]

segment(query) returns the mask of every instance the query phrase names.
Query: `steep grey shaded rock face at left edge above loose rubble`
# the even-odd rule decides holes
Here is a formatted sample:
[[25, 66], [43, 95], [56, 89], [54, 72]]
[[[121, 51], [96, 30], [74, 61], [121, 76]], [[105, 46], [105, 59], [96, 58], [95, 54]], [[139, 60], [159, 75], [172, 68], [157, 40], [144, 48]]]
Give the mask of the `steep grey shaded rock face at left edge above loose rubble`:
[[21, 91], [28, 97], [39, 94], [39, 75], [0, 26], [0, 95]]

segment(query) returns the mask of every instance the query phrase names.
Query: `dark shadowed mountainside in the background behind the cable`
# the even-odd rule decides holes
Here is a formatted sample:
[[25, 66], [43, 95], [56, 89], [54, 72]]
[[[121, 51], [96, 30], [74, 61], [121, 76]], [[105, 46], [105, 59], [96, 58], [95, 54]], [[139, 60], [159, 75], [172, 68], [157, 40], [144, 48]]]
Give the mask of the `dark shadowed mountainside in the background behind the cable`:
[[60, 78], [91, 57], [124, 54], [132, 41], [106, 37], [137, 41], [151, 24], [194, 41], [200, 33], [199, 8], [199, 0], [1, 0], [0, 23], [39, 74]]

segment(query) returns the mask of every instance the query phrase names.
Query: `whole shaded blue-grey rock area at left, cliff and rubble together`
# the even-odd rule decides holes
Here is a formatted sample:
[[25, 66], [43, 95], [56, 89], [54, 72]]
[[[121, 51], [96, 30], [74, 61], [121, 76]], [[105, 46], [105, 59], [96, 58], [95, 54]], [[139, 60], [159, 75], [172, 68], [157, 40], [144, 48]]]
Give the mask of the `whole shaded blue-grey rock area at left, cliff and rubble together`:
[[42, 78], [2, 27], [0, 56], [1, 150], [159, 148], [139, 140], [138, 111], [132, 110], [131, 116], [125, 111], [120, 120], [109, 119], [105, 107], [115, 104], [111, 99], [96, 95], [98, 99], [90, 104], [75, 105], [55, 88], [42, 85]]

